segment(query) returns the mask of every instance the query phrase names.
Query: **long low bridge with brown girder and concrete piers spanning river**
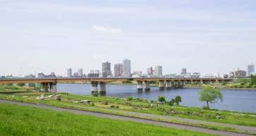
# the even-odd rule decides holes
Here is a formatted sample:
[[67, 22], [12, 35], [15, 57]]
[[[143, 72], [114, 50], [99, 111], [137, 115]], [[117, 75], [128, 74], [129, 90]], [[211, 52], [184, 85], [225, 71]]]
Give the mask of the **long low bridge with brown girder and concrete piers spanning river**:
[[229, 82], [230, 78], [0, 78], [0, 84], [15, 83], [40, 83], [43, 92], [56, 92], [57, 83], [86, 83], [91, 82], [91, 91], [98, 92], [100, 86], [100, 94], [106, 93], [107, 82], [115, 81], [135, 81], [138, 90], [150, 90], [151, 82], [158, 82], [159, 89], [171, 89], [183, 87], [187, 84], [209, 84], [211, 82]]

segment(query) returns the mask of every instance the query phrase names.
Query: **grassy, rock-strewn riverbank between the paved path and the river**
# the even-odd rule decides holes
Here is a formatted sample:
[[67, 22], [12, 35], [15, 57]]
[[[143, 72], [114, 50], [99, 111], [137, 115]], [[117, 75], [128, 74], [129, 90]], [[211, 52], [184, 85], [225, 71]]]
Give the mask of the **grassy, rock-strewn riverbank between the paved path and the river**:
[[[45, 99], [38, 99], [42, 94], [45, 95]], [[233, 132], [246, 133], [248, 130], [240, 129], [237, 126], [256, 126], [256, 113], [209, 111], [192, 107], [168, 106], [168, 104], [162, 105], [158, 104], [157, 101], [151, 102], [144, 99], [132, 99], [128, 101], [127, 99], [114, 97], [79, 96], [68, 93], [57, 93], [57, 95], [61, 95], [62, 97], [62, 101], [57, 101], [54, 99], [54, 97], [51, 97], [51, 95], [52, 93], [44, 92], [21, 92], [0, 94], [0, 99], [25, 101], [35, 104], [47, 104], [50, 106], [81, 109], [86, 111], [97, 111], [151, 120], [161, 120], [171, 123], [180, 123], [203, 128], [210, 128], [214, 130], [228, 130]], [[75, 102], [81, 100], [90, 101], [90, 103]], [[149, 116], [147, 116], [148, 114]], [[163, 116], [163, 118], [161, 116]], [[226, 126], [226, 124], [228, 126]]]

